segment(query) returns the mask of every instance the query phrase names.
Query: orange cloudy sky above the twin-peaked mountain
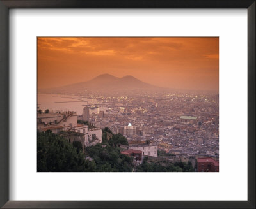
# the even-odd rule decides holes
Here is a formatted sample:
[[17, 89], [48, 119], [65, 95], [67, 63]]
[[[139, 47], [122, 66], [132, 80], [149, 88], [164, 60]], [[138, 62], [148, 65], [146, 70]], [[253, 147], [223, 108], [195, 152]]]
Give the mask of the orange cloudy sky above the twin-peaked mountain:
[[218, 38], [38, 38], [38, 88], [132, 75], [177, 89], [219, 86]]

